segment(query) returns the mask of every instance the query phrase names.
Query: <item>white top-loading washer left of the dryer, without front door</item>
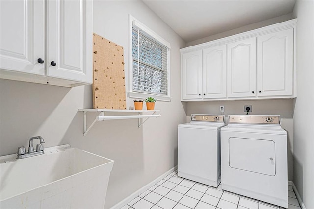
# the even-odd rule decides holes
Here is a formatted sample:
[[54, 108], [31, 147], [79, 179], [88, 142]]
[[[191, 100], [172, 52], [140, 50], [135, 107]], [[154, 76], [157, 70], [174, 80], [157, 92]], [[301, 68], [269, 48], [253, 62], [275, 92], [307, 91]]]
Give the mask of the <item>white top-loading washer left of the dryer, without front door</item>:
[[178, 176], [217, 187], [220, 183], [220, 128], [224, 115], [192, 114], [178, 126]]

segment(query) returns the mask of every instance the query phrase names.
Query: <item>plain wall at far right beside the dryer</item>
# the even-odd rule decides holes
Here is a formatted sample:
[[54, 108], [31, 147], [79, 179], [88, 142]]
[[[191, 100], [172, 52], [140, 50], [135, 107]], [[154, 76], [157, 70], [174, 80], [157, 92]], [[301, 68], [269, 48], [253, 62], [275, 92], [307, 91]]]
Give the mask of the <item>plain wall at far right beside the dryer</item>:
[[297, 0], [297, 94], [293, 115], [293, 182], [314, 208], [314, 1]]

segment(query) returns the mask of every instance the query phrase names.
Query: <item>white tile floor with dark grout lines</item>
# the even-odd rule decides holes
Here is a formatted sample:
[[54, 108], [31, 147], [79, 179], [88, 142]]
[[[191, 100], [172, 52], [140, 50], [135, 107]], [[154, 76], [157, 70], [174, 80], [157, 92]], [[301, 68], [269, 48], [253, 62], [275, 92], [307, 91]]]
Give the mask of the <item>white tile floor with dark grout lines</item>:
[[[121, 209], [283, 209], [249, 197], [178, 177], [172, 172]], [[288, 209], [301, 209], [288, 186]]]

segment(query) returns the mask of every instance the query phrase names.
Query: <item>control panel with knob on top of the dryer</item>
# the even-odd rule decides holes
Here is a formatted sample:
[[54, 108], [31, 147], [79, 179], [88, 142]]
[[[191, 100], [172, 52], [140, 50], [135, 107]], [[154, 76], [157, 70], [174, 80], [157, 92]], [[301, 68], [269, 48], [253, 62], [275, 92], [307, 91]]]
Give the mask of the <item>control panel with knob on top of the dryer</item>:
[[229, 123], [274, 124], [280, 125], [280, 116], [239, 116], [229, 115]]

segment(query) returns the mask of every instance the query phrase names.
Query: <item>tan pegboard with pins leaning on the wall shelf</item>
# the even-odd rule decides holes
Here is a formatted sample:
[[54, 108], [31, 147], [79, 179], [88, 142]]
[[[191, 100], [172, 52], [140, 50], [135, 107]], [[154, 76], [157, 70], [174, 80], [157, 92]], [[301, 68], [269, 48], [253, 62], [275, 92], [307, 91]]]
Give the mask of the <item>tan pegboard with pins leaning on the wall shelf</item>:
[[95, 33], [93, 104], [96, 109], [126, 109], [123, 47]]

